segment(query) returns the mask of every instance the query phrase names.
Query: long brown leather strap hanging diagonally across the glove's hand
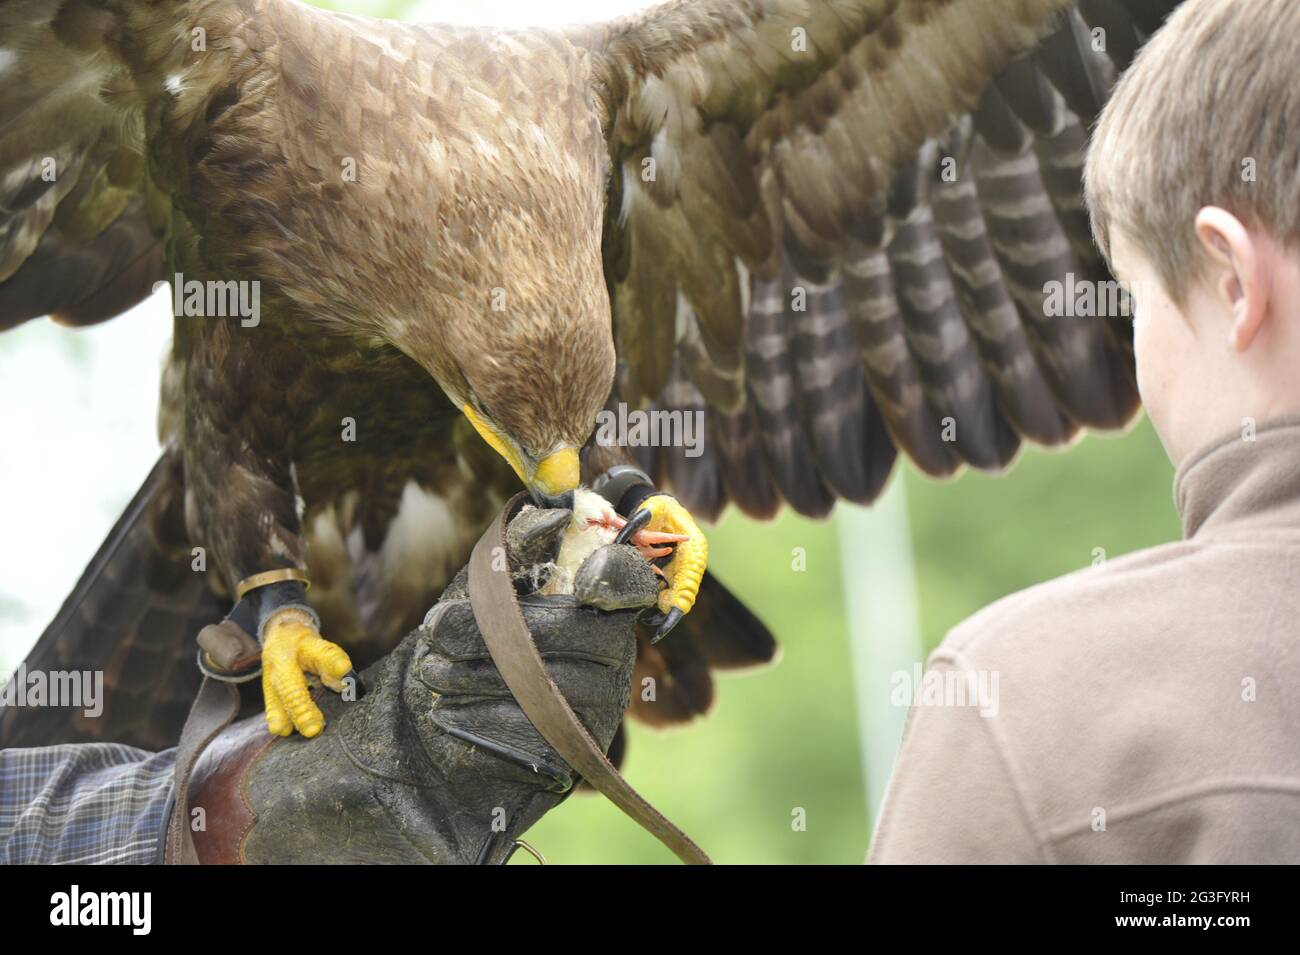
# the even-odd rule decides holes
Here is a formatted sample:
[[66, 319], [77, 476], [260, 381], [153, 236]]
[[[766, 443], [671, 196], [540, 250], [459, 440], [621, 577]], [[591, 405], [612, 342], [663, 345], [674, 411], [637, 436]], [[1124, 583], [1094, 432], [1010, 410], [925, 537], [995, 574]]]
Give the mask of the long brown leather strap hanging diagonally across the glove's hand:
[[494, 554], [506, 554], [506, 524], [521, 498], [523, 495], [515, 495], [502, 508], [469, 557], [469, 603], [497, 669], [537, 732], [582, 778], [684, 863], [708, 865], [710, 859], [703, 850], [619, 774], [547, 673], [519, 609], [508, 563], [503, 556], [493, 560]]

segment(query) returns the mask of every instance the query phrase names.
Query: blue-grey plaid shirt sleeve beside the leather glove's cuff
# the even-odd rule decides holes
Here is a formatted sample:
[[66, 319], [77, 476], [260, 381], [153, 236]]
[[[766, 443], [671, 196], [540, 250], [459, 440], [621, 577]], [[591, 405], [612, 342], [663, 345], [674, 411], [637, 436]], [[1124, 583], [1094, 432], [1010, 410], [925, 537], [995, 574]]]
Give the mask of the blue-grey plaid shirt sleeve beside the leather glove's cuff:
[[0, 863], [157, 861], [176, 750], [0, 750]]

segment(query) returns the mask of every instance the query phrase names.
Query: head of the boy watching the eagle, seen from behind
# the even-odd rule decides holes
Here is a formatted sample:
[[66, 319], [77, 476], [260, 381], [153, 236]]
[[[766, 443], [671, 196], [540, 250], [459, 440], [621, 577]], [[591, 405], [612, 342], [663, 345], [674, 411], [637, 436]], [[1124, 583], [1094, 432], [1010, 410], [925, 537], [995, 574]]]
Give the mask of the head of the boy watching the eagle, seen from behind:
[[1138, 386], [1175, 464], [1300, 412], [1300, 3], [1188, 0], [1106, 104], [1092, 229], [1134, 292]]

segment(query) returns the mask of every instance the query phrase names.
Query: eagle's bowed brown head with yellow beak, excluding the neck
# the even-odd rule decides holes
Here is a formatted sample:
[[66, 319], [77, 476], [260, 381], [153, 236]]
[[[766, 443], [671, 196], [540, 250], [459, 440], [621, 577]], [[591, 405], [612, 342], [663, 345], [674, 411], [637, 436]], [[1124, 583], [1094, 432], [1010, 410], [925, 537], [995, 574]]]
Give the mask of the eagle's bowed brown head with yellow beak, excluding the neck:
[[438, 295], [434, 320], [390, 335], [534, 502], [572, 507], [578, 452], [614, 385], [599, 231], [554, 220], [508, 227], [504, 216], [498, 213], [491, 234], [480, 231], [458, 249], [473, 274], [460, 294]]

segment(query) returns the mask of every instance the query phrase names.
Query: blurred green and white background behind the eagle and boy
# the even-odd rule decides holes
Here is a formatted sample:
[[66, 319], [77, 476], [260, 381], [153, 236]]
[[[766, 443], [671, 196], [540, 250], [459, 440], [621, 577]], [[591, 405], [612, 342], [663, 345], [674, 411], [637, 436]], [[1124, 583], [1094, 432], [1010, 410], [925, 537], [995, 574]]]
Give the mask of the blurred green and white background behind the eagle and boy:
[[[322, 5], [417, 19], [476, 18], [468, 8], [406, 0]], [[629, 5], [641, 4], [618, 0], [598, 5], [593, 14], [580, 3], [573, 16], [547, 16], [552, 21], [614, 16]], [[515, 8], [528, 5], [491, 0], [471, 13], [504, 18]], [[22, 659], [152, 464], [148, 431], [156, 405], [148, 407], [144, 395], [156, 394], [150, 369], [166, 334], [165, 305], [155, 311], [156, 316], [129, 316], [75, 334], [32, 324], [0, 342], [3, 407], [10, 412], [23, 407], [36, 388], [65, 401], [49, 400], [12, 418], [12, 427], [27, 429], [17, 431], [18, 446], [27, 447], [30, 438], [38, 446], [53, 442], [62, 448], [74, 442], [86, 448], [95, 434], [105, 433], [110, 440], [105, 447], [112, 448], [91, 447], [82, 457], [99, 461], [94, 500], [73, 502], [64, 494], [62, 511], [75, 504], [86, 508], [86, 516], [64, 515], [68, 529], [56, 528], [42, 534], [52, 539], [38, 542], [57, 548], [57, 559], [40, 552], [34, 557], [32, 548], [17, 547], [12, 534], [34, 495], [39, 500], [42, 492], [61, 492], [51, 485], [58, 457], [23, 455], [0, 469], [5, 499], [25, 502], [6, 505], [10, 534], [0, 547], [0, 557], [14, 559], [0, 579], [0, 669]], [[46, 359], [49, 365], [42, 364]], [[139, 364], [124, 374], [133, 361]], [[127, 395], [122, 385], [110, 383], [125, 381], [140, 387]], [[113, 405], [112, 414], [94, 417], [103, 405]], [[127, 435], [134, 443], [124, 451]], [[112, 478], [105, 468], [114, 469]], [[1028, 448], [1008, 474], [997, 477], [966, 473], [936, 482], [901, 465], [893, 481], [904, 482], [904, 495], [894, 500], [897, 517], [905, 520], [904, 541], [911, 542], [923, 652], [989, 602], [1092, 564], [1095, 548], [1114, 557], [1176, 538], [1171, 477], [1145, 420], [1123, 435], [1088, 437], [1067, 451]], [[42, 520], [44, 528], [48, 521]], [[83, 533], [75, 541], [60, 538], [73, 529]], [[897, 551], [900, 561], [909, 556], [897, 539], [872, 539], [861, 529], [861, 515], [840, 505], [828, 521], [786, 513], [772, 524], [757, 524], [729, 513], [711, 531], [711, 567], [772, 628], [781, 659], [762, 672], [724, 677], [712, 713], [690, 726], [667, 733], [632, 726], [624, 769], [716, 861], [861, 863], [864, 858], [871, 829], [862, 756], [867, 734], [859, 716], [866, 712], [864, 690], [855, 673], [845, 596], [848, 589], [859, 587], [871, 591], [871, 599], [881, 596], [872, 590], [878, 582], [863, 579], [857, 569], [846, 579], [841, 548], [890, 548], [885, 556]], [[802, 572], [792, 569], [792, 552], [800, 547], [806, 554]], [[30, 564], [39, 565], [40, 576], [23, 583]], [[36, 599], [40, 581], [52, 581], [51, 590]], [[892, 760], [892, 751], [879, 759]], [[797, 828], [792, 822], [801, 811], [806, 826]], [[550, 813], [526, 838], [552, 863], [673, 861], [603, 798], [585, 794]], [[516, 858], [529, 861], [524, 854]]]

